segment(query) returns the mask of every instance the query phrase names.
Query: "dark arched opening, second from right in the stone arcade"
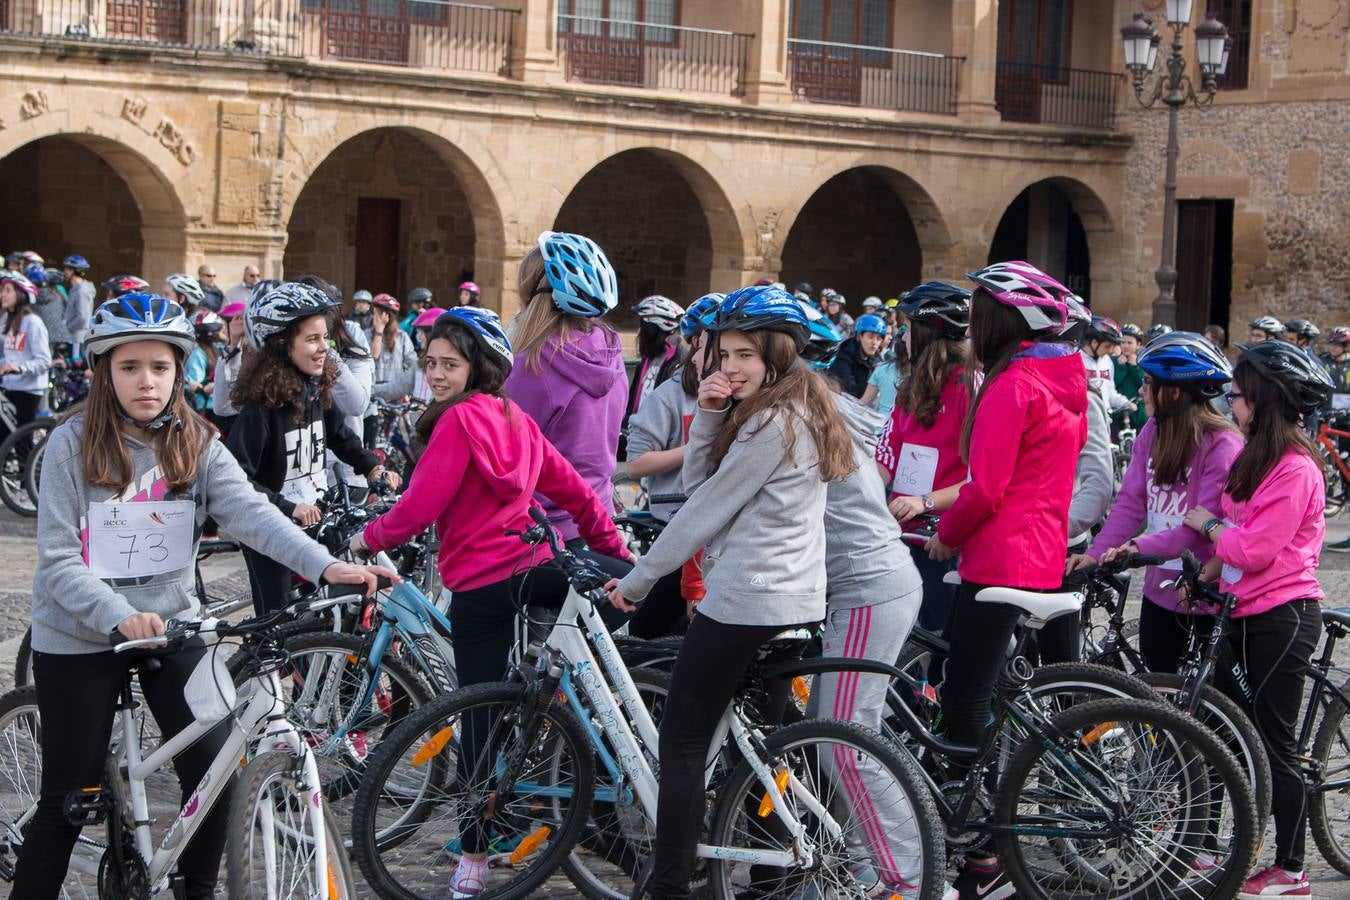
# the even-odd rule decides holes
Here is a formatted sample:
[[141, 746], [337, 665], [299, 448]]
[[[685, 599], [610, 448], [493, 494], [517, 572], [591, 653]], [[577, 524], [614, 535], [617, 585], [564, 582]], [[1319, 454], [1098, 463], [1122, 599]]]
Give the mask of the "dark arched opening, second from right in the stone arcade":
[[[882, 166], [861, 166], [817, 188], [783, 244], [782, 281], [833, 287], [857, 316], [869, 294], [895, 297], [922, 281], [923, 246], [917, 204], [932, 200], [913, 179]], [[918, 220], [918, 221], [917, 221]]]

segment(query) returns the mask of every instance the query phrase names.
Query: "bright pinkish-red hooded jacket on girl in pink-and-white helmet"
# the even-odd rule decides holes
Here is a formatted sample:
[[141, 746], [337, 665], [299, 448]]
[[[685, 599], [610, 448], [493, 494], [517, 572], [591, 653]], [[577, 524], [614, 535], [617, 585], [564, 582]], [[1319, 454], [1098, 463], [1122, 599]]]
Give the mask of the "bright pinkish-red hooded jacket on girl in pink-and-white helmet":
[[963, 580], [1035, 590], [1062, 583], [1087, 409], [1083, 362], [1062, 344], [1025, 344], [987, 386], [971, 433], [971, 480], [937, 530], [960, 551]]

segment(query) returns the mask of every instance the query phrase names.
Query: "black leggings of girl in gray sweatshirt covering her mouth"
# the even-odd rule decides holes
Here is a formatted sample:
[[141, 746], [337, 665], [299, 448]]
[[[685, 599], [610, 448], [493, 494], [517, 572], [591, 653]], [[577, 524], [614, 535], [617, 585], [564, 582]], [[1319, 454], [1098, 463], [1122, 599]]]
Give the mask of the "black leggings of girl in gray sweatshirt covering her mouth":
[[[718, 719], [726, 711], [756, 650], [784, 625], [722, 625], [695, 615], [675, 660], [670, 698], [662, 716], [662, 779], [656, 806], [656, 843], [651, 897], [687, 897], [694, 850], [703, 834], [703, 764]], [[767, 685], [770, 723], [782, 718], [787, 683]]]

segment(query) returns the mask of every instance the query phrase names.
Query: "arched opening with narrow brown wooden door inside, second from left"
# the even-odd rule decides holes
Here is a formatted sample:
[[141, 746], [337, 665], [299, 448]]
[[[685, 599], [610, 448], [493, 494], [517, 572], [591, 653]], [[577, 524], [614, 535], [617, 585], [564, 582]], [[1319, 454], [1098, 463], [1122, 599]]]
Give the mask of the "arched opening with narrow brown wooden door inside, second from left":
[[[317, 274], [343, 289], [404, 301], [429, 287], [441, 305], [475, 277], [478, 227], [439, 139], [404, 128], [351, 138], [313, 171], [286, 225], [288, 277]], [[495, 279], [493, 279], [495, 281]]]

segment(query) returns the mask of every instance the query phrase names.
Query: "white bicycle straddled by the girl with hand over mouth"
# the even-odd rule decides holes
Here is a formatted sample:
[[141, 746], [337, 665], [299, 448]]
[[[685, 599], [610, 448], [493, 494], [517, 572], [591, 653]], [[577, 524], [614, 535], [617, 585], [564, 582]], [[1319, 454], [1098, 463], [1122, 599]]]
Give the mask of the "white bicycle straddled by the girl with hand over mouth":
[[[559, 546], [541, 519], [537, 514], [522, 537], [547, 541], [571, 582], [548, 638], [531, 645], [514, 680], [432, 700], [371, 754], [370, 777], [356, 793], [352, 853], [381, 896], [443, 893], [446, 868], [474, 828], [486, 834], [498, 864], [485, 900], [524, 896], [570, 858], [595, 800], [613, 804], [622, 835], [647, 846], [656, 814], [656, 727], [599, 618], [597, 591], [605, 575]], [[783, 640], [803, 637], [792, 630]], [[717, 781], [709, 842], [697, 850], [713, 896], [732, 896], [751, 866], [778, 880], [770, 895], [857, 884], [850, 865], [871, 866], [865, 847], [884, 838], [875, 828], [867, 833], [855, 816], [857, 804], [834, 793], [837, 761], [848, 760], [886, 781], [886, 797], [871, 796], [914, 839], [906, 864], [918, 881], [917, 896], [941, 896], [940, 831], [913, 760], [844, 722], [801, 722], [765, 735], [747, 704], [742, 694], [726, 710], [710, 746], [710, 766], [724, 750], [737, 758], [734, 770]], [[483, 752], [464, 758], [466, 741], [471, 748], [483, 733]], [[601, 785], [603, 797], [595, 788], [597, 756], [609, 779]], [[420, 785], [412, 799], [405, 796], [410, 783]]]

